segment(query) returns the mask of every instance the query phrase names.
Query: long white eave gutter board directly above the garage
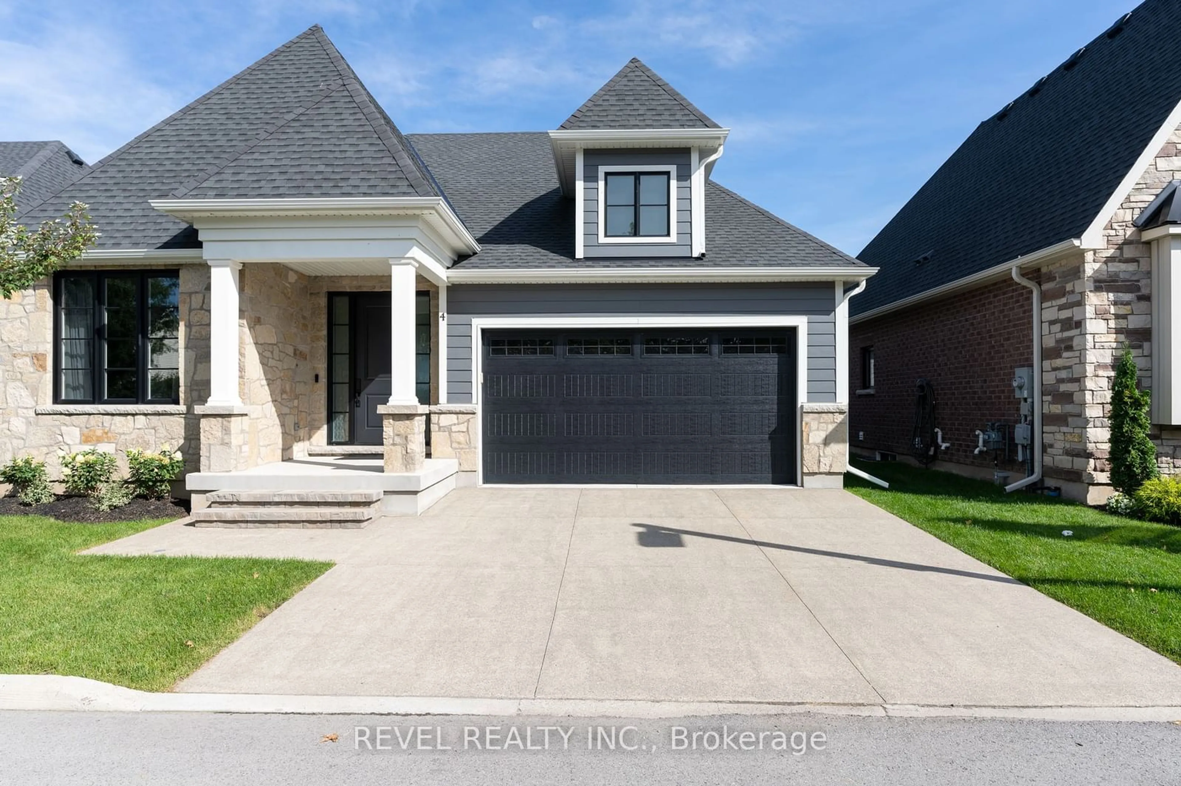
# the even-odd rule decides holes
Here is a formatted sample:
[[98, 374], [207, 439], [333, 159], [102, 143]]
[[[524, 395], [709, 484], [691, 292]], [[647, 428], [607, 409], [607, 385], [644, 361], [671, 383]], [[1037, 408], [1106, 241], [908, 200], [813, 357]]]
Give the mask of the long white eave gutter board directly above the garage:
[[877, 268], [550, 268], [448, 270], [448, 283], [744, 283], [863, 281]]

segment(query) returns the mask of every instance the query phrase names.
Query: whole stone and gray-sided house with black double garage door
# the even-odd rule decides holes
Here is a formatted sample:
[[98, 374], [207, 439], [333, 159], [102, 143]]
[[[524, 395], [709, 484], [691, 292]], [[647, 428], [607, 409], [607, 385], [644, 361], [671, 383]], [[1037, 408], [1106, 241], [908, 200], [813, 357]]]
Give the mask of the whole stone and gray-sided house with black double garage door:
[[24, 203], [102, 235], [0, 302], [0, 461], [178, 447], [205, 524], [840, 486], [874, 270], [715, 183], [727, 135], [639, 60], [552, 131], [403, 135], [313, 27]]

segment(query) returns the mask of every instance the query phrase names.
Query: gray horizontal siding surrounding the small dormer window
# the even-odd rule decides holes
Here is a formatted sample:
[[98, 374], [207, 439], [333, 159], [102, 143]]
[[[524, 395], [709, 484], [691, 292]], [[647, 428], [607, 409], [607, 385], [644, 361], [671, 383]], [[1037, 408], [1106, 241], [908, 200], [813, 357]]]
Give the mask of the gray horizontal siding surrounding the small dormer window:
[[[692, 212], [689, 150], [587, 150], [582, 158], [582, 244], [587, 257], [603, 256], [690, 256], [692, 248]], [[599, 166], [639, 166], [644, 164], [677, 168], [676, 243], [599, 243]]]

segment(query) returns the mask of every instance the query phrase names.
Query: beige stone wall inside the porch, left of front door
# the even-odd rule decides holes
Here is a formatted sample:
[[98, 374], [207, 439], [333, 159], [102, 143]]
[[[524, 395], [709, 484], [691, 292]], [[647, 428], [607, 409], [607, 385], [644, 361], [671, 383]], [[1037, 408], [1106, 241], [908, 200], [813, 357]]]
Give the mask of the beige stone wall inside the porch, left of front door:
[[[244, 264], [239, 273], [243, 434], [247, 466], [305, 454], [313, 368], [308, 276], [282, 264]], [[322, 373], [322, 372], [321, 372]], [[235, 426], [236, 427], [236, 426]]]

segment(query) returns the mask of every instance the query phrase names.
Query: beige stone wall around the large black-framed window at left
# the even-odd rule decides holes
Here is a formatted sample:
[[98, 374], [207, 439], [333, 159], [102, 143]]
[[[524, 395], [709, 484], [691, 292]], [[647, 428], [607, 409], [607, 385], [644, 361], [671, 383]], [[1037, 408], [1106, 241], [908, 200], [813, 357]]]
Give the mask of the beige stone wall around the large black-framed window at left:
[[[84, 269], [78, 266], [77, 269]], [[181, 266], [181, 406], [203, 401], [209, 367], [209, 270]], [[50, 282], [0, 300], [0, 464], [14, 456], [48, 463], [60, 477], [58, 451], [98, 447], [180, 450], [200, 466], [200, 424], [178, 407], [53, 406], [53, 302]], [[125, 470], [125, 463], [123, 464]]]

